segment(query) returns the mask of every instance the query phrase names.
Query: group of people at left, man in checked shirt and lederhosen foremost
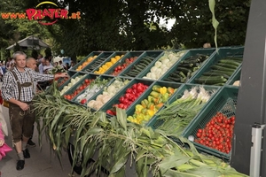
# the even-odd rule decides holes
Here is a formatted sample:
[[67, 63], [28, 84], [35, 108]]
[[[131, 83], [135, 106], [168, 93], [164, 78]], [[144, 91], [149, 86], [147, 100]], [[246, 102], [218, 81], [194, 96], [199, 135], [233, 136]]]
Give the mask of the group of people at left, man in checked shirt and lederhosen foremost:
[[[35, 142], [31, 141], [35, 123], [32, 99], [38, 91], [37, 83], [40, 81], [51, 81], [54, 78], [66, 77], [67, 73], [48, 74], [47, 71], [54, 67], [51, 63], [51, 58], [43, 58], [42, 55], [39, 55], [37, 59], [27, 58], [27, 55], [22, 51], [14, 52], [12, 58], [8, 58], [6, 63], [1, 63], [1, 69], [2, 67], [5, 70], [2, 70], [1, 75], [3, 84], [0, 101], [3, 98], [9, 103], [12, 147], [18, 155], [16, 169], [22, 170], [25, 165], [25, 158], [30, 158], [27, 147], [35, 146]], [[5, 152], [12, 150], [4, 142], [4, 135], [7, 135], [7, 131], [6, 125], [3, 127], [4, 116], [1, 109], [0, 159], [5, 156]], [[3, 134], [2, 130], [5, 130], [5, 134]]]

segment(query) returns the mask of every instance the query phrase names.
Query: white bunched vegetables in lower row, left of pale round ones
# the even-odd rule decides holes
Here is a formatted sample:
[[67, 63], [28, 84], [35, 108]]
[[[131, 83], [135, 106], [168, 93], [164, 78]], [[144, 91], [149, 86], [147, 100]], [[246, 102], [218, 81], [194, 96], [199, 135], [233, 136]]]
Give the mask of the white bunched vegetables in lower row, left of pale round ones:
[[[84, 82], [86, 83], [86, 81], [88, 81], [88, 80], [89, 79], [86, 79]], [[84, 91], [82, 92], [82, 94], [80, 94], [79, 96], [77, 96], [74, 99], [74, 102], [77, 102], [80, 104], [87, 104], [88, 100], [92, 96], [97, 94], [100, 89], [103, 89], [104, 87], [106, 87], [106, 84], [109, 82], [109, 80], [106, 80], [106, 79], [102, 80], [99, 77], [95, 80], [89, 80], [89, 81], [88, 81], [89, 83], [87, 85], [88, 87], [83, 88], [83, 86], [82, 86], [82, 90], [84, 89]]]

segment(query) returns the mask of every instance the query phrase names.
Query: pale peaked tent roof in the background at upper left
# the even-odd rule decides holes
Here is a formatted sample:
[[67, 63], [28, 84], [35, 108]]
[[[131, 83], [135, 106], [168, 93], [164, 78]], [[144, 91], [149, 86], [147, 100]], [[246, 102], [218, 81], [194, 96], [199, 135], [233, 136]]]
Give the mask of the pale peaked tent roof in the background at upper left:
[[[50, 46], [40, 40], [38, 37], [34, 35], [30, 35], [18, 42], [21, 48], [31, 49], [31, 50], [40, 50], [43, 48], [49, 48]], [[16, 43], [12, 44], [6, 50], [12, 50], [16, 46]]]

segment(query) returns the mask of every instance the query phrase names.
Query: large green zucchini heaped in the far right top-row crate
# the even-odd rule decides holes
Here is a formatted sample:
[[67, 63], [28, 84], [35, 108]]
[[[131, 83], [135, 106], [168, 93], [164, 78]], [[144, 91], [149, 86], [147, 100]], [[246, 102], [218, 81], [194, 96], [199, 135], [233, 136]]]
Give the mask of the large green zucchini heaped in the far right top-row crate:
[[242, 63], [242, 58], [222, 58], [210, 70], [195, 79], [196, 83], [223, 86]]

